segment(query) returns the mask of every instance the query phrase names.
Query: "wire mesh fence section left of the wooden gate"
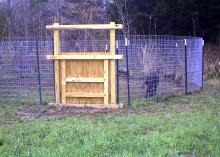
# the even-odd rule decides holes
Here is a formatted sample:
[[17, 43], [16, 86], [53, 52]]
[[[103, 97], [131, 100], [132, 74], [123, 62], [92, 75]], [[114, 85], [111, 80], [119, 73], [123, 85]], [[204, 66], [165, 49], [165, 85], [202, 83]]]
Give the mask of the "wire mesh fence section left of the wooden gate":
[[[52, 101], [52, 40], [10, 38], [1, 40], [0, 101], [43, 103]], [[41, 98], [41, 100], [40, 100]]]

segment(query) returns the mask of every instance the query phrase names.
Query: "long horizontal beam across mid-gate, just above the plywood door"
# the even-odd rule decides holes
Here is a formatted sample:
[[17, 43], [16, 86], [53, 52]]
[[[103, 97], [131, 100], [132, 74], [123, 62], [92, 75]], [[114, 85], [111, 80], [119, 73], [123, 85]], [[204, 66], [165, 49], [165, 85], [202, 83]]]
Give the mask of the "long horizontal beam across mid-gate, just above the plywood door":
[[100, 59], [123, 59], [123, 55], [47, 55], [50, 60], [100, 60]]

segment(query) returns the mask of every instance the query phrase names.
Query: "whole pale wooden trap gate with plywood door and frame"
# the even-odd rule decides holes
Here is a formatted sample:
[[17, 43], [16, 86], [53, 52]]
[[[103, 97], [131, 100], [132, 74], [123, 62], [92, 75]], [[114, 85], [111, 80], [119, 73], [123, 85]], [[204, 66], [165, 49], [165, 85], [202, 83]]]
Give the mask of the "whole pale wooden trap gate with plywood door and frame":
[[[82, 104], [115, 105], [116, 102], [116, 29], [121, 24], [53, 25], [54, 55], [47, 56], [55, 64], [56, 103], [81, 106]], [[60, 52], [60, 30], [110, 30], [110, 52]]]

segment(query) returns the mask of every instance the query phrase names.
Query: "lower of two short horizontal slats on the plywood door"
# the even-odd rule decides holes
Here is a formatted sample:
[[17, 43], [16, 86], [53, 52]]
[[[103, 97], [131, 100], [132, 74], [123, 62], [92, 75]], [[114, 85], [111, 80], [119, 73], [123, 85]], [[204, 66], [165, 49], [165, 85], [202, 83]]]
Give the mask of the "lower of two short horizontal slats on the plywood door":
[[104, 93], [72, 93], [67, 92], [66, 97], [71, 98], [97, 98], [97, 97], [104, 97]]

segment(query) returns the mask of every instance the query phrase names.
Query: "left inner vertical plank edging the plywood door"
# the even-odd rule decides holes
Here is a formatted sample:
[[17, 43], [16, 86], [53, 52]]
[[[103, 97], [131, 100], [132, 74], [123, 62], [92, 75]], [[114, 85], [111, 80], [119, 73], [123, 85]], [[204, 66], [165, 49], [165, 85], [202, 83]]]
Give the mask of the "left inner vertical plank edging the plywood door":
[[62, 103], [66, 103], [66, 61], [61, 61]]

